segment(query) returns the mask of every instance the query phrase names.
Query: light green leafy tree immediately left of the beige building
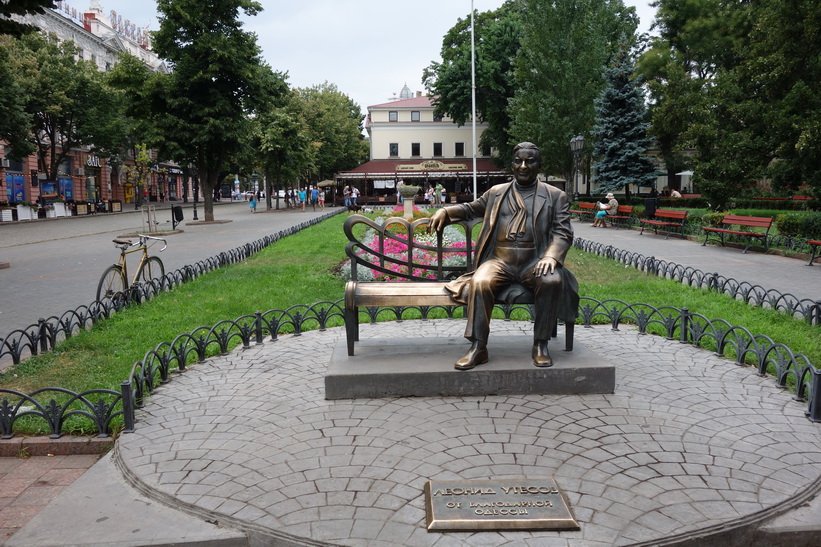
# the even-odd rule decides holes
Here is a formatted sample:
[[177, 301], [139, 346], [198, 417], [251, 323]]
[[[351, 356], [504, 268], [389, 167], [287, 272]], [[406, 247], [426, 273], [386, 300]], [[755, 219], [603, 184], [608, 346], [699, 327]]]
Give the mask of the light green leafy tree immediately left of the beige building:
[[297, 93], [316, 147], [313, 169], [306, 175], [319, 181], [367, 161], [368, 143], [362, 135], [365, 117], [359, 105], [327, 82]]

